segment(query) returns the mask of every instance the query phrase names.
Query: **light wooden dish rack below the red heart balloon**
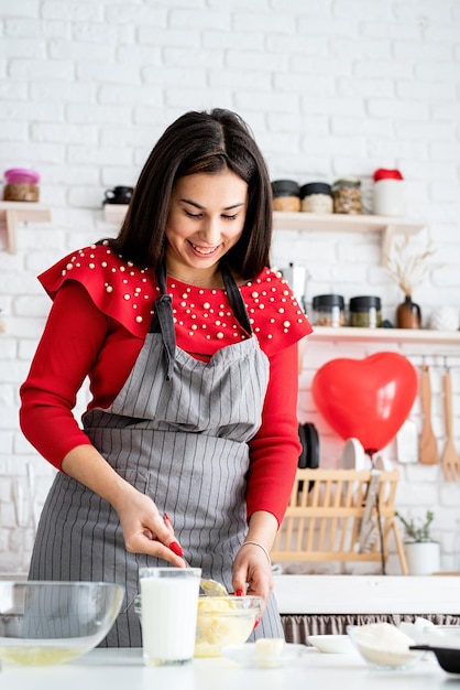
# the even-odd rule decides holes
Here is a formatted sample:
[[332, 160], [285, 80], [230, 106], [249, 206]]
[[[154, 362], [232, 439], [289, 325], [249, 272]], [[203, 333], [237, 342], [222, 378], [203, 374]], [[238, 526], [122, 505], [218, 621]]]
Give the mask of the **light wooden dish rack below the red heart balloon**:
[[297, 470], [272, 561], [380, 561], [384, 574], [392, 533], [407, 575], [394, 509], [398, 479], [397, 471]]

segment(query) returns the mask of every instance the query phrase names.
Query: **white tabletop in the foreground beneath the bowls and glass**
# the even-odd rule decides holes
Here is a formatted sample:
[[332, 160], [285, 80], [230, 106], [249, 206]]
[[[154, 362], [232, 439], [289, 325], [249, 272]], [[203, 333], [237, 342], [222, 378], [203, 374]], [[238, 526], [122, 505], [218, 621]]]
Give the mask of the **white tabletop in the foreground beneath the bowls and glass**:
[[95, 649], [62, 666], [3, 664], [0, 687], [14, 690], [446, 690], [460, 676], [430, 657], [408, 671], [376, 671], [358, 654], [308, 649], [297, 666], [243, 669], [228, 659], [195, 659], [184, 667], [145, 667], [140, 649]]

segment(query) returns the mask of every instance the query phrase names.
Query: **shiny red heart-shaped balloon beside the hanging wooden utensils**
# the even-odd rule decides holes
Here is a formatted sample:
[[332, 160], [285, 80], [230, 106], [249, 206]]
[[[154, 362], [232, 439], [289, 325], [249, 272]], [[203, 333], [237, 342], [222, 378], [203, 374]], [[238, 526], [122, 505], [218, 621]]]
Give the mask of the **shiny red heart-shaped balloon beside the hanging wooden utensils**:
[[342, 439], [358, 439], [372, 455], [395, 436], [417, 395], [417, 374], [397, 353], [331, 359], [316, 373], [311, 395]]

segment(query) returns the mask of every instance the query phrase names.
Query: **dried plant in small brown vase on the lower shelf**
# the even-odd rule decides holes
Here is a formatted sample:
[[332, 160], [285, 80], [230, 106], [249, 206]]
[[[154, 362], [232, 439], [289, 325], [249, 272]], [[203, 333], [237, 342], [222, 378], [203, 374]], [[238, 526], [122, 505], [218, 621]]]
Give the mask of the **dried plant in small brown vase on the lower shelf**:
[[395, 237], [387, 257], [386, 272], [404, 292], [404, 302], [396, 310], [397, 328], [421, 328], [421, 313], [413, 302], [414, 290], [420, 285], [428, 273], [428, 258], [435, 251], [428, 242], [415, 249], [407, 235]]

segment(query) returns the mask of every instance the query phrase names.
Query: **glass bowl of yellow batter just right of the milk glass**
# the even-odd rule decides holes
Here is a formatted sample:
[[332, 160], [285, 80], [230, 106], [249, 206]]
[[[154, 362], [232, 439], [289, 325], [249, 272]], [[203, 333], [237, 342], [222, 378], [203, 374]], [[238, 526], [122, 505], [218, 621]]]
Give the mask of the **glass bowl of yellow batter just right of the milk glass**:
[[[200, 596], [198, 600], [195, 657], [220, 657], [221, 647], [241, 645], [261, 615], [260, 596]], [[141, 618], [141, 595], [134, 599]]]

